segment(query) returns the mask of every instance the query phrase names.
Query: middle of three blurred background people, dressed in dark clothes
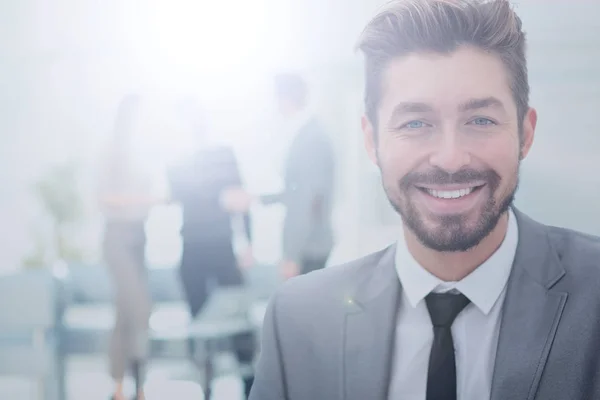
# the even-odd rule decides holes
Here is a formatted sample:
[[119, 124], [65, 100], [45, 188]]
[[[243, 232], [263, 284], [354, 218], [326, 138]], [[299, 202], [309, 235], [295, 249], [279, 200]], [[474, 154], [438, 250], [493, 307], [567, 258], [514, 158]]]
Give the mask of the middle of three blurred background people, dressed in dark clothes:
[[[195, 140], [195, 152], [170, 168], [168, 180], [171, 200], [180, 204], [183, 214], [180, 263], [181, 282], [190, 314], [195, 318], [212, 290], [243, 285], [240, 267], [253, 263], [250, 215], [224, 209], [221, 197], [226, 188], [241, 188], [242, 179], [233, 149], [211, 143], [204, 110], [193, 97], [186, 96], [177, 111], [189, 125]], [[241, 220], [241, 221], [240, 221]], [[242, 222], [242, 223], [239, 223]], [[246, 248], [237, 249], [234, 238], [243, 229]], [[254, 356], [254, 338], [243, 335], [234, 340], [238, 360], [248, 363]], [[194, 341], [189, 352], [195, 359]], [[252, 379], [244, 382], [249, 393]]]

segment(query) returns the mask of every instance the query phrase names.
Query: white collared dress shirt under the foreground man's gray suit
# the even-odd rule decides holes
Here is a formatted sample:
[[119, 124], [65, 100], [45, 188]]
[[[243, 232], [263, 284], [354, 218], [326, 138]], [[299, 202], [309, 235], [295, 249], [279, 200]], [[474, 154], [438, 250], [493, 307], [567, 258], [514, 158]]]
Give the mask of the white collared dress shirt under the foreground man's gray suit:
[[443, 282], [422, 268], [398, 241], [396, 271], [402, 296], [390, 375], [390, 400], [425, 400], [433, 327], [425, 297], [430, 292], [459, 291], [471, 303], [456, 317], [452, 337], [456, 355], [458, 400], [490, 398], [501, 310], [519, 234], [509, 211], [506, 236], [498, 250], [458, 282]]

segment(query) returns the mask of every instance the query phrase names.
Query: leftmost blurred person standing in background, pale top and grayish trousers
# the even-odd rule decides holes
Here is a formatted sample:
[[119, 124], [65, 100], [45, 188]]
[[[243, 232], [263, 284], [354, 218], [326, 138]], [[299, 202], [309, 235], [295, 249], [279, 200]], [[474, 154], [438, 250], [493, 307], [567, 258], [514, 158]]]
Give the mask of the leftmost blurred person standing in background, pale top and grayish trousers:
[[141, 99], [125, 97], [101, 165], [98, 200], [105, 218], [104, 260], [115, 288], [116, 321], [110, 340], [113, 399], [123, 400], [123, 379], [131, 372], [137, 398], [143, 398], [151, 299], [145, 265], [144, 224], [153, 205], [155, 177], [136, 153], [136, 120]]

